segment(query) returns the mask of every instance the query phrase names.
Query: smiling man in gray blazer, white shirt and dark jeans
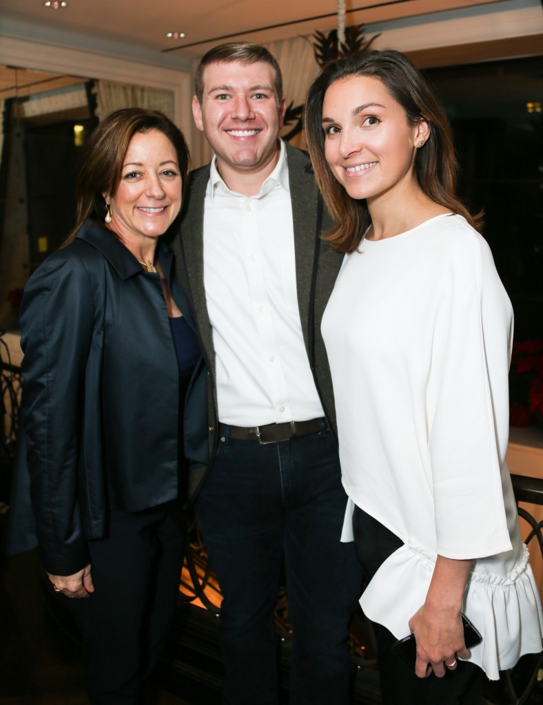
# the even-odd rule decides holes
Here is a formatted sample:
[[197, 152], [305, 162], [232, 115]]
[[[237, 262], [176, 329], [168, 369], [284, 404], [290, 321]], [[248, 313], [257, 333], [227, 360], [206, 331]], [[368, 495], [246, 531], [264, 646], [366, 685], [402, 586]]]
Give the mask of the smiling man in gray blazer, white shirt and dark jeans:
[[207, 52], [193, 114], [214, 158], [189, 181], [178, 276], [210, 378], [212, 462], [190, 477], [219, 578], [224, 703], [277, 705], [274, 606], [284, 565], [295, 705], [347, 705], [360, 596], [334, 396], [320, 333], [341, 255], [307, 154], [279, 139], [281, 71], [248, 42]]

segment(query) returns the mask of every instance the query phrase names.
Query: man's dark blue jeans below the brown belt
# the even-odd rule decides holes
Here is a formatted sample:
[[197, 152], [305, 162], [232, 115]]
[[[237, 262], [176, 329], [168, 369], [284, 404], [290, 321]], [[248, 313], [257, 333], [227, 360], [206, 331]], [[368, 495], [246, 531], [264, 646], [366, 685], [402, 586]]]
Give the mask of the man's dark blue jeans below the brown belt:
[[278, 702], [274, 607], [286, 566], [293, 625], [291, 705], [346, 705], [348, 627], [361, 590], [334, 437], [322, 431], [260, 446], [226, 435], [196, 516], [224, 596], [224, 703]]

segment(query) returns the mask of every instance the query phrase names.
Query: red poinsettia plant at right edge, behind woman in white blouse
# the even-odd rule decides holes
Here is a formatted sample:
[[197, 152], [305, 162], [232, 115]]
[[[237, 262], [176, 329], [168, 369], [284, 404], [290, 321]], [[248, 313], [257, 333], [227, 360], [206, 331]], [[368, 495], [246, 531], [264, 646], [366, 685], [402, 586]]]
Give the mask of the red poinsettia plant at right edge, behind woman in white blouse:
[[514, 341], [509, 370], [509, 422], [543, 419], [543, 341]]

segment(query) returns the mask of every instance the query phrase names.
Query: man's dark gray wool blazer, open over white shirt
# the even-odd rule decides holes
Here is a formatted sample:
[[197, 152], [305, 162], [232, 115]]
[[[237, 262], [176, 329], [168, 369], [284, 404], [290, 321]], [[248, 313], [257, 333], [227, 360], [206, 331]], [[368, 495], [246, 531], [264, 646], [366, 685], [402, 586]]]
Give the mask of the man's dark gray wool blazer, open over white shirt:
[[[333, 250], [320, 241], [322, 232], [333, 225], [326, 207], [321, 205], [322, 222], [319, 220], [319, 190], [309, 156], [300, 149], [286, 143], [288, 180], [291, 187], [291, 201], [295, 240], [296, 283], [298, 308], [303, 337], [310, 360], [313, 377], [317, 386], [324, 413], [331, 429], [336, 434], [336, 413], [334, 392], [320, 324], [331, 290], [343, 261], [343, 253]], [[202, 352], [208, 367], [209, 379], [209, 452], [213, 458], [218, 440], [217, 403], [215, 388], [215, 355], [212, 326], [207, 312], [204, 289], [204, 200], [209, 180], [209, 164], [189, 175], [188, 193], [183, 204], [183, 218], [179, 238], [171, 244], [176, 254], [176, 276], [181, 281], [185, 295], [190, 300], [195, 313]], [[322, 204], [322, 200], [321, 200]], [[211, 466], [191, 470], [189, 494], [194, 498]]]

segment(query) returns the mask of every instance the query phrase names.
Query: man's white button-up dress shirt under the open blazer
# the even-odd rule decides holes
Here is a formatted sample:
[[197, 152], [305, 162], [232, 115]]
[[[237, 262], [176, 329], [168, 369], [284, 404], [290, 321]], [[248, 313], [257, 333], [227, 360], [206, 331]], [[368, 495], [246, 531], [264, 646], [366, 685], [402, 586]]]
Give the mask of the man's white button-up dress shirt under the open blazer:
[[211, 164], [204, 281], [219, 420], [236, 426], [322, 417], [296, 292], [286, 149], [260, 192], [231, 191]]

